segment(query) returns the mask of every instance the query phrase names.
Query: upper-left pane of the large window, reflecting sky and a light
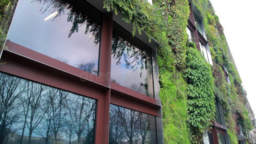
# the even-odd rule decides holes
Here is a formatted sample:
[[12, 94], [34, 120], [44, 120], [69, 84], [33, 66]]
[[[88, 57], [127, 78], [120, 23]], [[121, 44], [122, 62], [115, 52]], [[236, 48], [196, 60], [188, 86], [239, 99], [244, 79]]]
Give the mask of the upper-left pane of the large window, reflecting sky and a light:
[[92, 19], [76, 7], [58, 0], [20, 0], [7, 40], [97, 74], [101, 14], [87, 12]]

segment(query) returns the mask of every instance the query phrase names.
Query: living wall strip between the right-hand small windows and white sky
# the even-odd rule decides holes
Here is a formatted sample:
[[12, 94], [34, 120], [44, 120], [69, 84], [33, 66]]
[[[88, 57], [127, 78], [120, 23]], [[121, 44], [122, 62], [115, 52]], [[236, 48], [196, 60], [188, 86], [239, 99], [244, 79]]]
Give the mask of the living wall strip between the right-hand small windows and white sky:
[[[223, 27], [214, 12], [211, 2], [209, 0], [193, 0], [193, 2], [201, 11], [202, 17], [204, 17], [204, 27], [213, 60], [214, 86], [219, 91], [217, 98], [220, 100], [224, 110], [230, 143], [237, 144], [236, 129], [238, 127], [236, 127], [236, 122], [242, 125], [245, 136], [247, 132], [252, 130], [252, 124], [244, 106], [242, 80], [235, 65], [230, 62], [230, 60], [233, 60], [228, 57], [228, 45], [223, 33]], [[223, 67], [228, 70], [231, 84], [226, 81], [222, 70]]]

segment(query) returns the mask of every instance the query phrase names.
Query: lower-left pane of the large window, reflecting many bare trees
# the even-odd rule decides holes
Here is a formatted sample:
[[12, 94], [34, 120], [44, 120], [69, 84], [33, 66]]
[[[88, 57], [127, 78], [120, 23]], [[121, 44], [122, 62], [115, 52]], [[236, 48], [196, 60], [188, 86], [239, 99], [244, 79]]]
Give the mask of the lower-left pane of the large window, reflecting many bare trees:
[[3, 73], [0, 96], [0, 143], [94, 143], [96, 100]]

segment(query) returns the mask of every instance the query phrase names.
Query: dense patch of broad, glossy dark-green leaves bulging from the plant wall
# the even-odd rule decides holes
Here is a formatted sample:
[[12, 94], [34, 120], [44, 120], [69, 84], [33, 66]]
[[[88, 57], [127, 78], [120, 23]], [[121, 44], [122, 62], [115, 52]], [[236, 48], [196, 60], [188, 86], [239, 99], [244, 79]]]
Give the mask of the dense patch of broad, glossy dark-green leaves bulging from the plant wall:
[[200, 135], [211, 128], [215, 119], [215, 97], [211, 66], [196, 48], [189, 47], [186, 53], [184, 78], [188, 83], [188, 123], [193, 132]]

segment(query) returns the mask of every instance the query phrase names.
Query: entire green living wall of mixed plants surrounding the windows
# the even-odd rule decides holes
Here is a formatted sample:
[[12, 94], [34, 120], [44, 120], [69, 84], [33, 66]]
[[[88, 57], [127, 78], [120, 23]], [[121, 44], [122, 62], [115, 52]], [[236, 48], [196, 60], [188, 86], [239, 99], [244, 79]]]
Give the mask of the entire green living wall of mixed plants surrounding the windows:
[[[229, 62], [223, 28], [209, 1], [194, 0], [194, 3], [204, 17], [213, 66], [204, 60], [195, 44], [188, 43], [187, 0], [153, 0], [153, 5], [145, 0], [104, 0], [103, 3], [108, 11], [121, 12], [124, 21], [133, 25], [133, 36], [144, 31], [149, 41], [152, 36], [159, 42], [157, 62], [164, 143], [203, 142], [202, 132], [211, 128], [210, 120], [215, 118], [213, 92], [218, 93], [217, 98], [224, 108], [231, 143], [237, 143], [236, 120], [241, 122], [244, 132], [251, 129], [243, 103], [242, 82], [234, 64]], [[1, 44], [14, 5], [12, 0], [0, 1]], [[230, 74], [231, 84], [226, 82], [221, 68], [223, 63]]]

